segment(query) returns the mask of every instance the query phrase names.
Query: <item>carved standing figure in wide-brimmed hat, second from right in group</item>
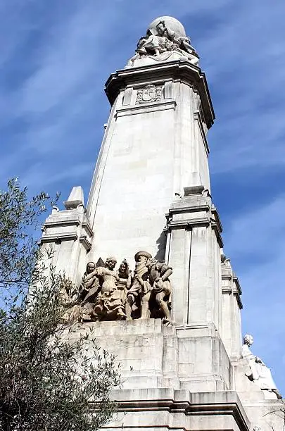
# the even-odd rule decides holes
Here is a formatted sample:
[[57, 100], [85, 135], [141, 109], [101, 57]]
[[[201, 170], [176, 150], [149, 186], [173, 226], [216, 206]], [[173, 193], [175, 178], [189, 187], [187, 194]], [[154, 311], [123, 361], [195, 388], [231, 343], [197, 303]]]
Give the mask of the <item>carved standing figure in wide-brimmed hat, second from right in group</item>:
[[134, 255], [136, 266], [132, 286], [127, 292], [127, 302], [125, 311], [127, 320], [132, 320], [132, 313], [141, 307], [141, 318], [149, 318], [150, 312], [148, 301], [151, 292], [151, 285], [148, 281], [148, 259], [152, 256], [147, 251], [138, 251]]

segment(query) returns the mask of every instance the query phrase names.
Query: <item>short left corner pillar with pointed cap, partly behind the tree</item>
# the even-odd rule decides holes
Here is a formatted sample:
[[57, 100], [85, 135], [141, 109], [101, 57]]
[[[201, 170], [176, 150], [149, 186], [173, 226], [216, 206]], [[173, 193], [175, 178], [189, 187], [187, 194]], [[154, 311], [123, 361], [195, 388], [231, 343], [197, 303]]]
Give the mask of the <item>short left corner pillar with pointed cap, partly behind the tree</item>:
[[42, 227], [42, 250], [51, 252], [51, 264], [56, 272], [64, 272], [78, 284], [87, 263], [93, 232], [84, 209], [82, 187], [73, 187], [64, 202], [65, 210], [53, 206]]

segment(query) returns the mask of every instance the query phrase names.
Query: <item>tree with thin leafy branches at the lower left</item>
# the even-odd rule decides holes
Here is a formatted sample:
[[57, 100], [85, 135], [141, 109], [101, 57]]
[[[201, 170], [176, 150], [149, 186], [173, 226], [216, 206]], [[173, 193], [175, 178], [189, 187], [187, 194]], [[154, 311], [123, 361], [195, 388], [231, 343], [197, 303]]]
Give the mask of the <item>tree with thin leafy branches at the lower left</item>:
[[[115, 358], [92, 331], [74, 327], [63, 289], [70, 280], [41, 256], [32, 228], [49, 196], [27, 199], [16, 180], [0, 191], [0, 429], [91, 431], [115, 412]], [[42, 263], [39, 263], [42, 262]], [[47, 262], [47, 263], [46, 263]]]

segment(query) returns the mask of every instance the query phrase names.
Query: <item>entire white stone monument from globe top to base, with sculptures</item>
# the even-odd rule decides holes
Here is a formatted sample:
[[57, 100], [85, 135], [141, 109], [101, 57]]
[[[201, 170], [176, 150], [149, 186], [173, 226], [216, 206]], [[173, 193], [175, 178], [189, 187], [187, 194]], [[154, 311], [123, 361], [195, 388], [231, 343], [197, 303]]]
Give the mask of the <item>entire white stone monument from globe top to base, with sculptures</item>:
[[77, 286], [74, 337], [93, 327], [122, 364], [107, 430], [281, 429], [267, 414], [281, 402], [270, 370], [251, 337], [241, 345], [241, 287], [210, 195], [215, 115], [198, 61], [175, 18], [148, 26], [106, 82], [112, 108], [87, 206], [73, 187], [44, 224], [42, 247]]

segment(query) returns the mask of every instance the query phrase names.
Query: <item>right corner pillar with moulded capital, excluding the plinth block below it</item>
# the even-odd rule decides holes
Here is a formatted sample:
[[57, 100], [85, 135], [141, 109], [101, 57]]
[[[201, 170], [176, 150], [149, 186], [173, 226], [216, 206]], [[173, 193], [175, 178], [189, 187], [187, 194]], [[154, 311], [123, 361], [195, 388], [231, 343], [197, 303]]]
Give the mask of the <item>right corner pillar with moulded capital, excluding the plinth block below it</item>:
[[222, 227], [203, 187], [187, 187], [173, 202], [165, 231], [166, 261], [175, 268], [172, 319], [177, 325], [213, 324], [220, 331]]

